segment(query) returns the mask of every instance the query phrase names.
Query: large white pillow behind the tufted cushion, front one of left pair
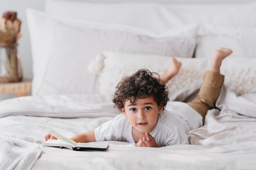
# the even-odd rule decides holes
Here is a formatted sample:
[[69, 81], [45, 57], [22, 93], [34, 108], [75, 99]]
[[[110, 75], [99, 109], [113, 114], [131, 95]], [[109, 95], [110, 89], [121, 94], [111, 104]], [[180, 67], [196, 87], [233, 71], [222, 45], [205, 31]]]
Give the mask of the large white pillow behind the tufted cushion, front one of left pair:
[[[34, 13], [40, 15], [36, 11]], [[31, 14], [33, 15], [33, 11]], [[33, 83], [33, 86], [37, 86], [33, 89], [33, 95], [96, 93], [96, 77], [89, 73], [88, 65], [102, 51], [192, 57], [196, 45], [197, 25], [156, 34], [129, 26], [83, 21], [80, 21], [83, 23], [80, 26], [70, 26], [49, 15], [41, 14], [39, 19], [45, 18], [44, 20], [54, 23], [49, 25], [53, 27], [53, 37], [45, 43], [53, 42], [52, 50], [46, 57], [46, 67], [44, 70], [40, 67], [44, 72], [40, 76], [41, 81]], [[36, 60], [36, 56], [34, 59]], [[36, 71], [36, 65], [34, 67]]]

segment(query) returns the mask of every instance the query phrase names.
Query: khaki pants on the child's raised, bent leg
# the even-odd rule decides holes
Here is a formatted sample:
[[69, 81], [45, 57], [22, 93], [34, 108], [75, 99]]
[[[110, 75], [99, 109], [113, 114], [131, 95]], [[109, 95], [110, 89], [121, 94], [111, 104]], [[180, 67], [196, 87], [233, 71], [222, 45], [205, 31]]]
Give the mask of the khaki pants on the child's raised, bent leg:
[[203, 83], [197, 97], [193, 101], [187, 103], [202, 115], [203, 124], [207, 110], [215, 107], [223, 81], [224, 75], [205, 71]]

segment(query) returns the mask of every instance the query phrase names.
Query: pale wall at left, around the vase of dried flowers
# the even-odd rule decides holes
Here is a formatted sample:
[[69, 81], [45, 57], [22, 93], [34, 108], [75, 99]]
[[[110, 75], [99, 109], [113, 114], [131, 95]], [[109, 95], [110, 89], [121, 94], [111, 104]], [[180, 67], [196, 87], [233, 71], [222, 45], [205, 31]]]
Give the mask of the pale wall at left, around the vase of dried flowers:
[[[24, 77], [32, 78], [32, 59], [30, 51], [29, 33], [27, 28], [26, 8], [34, 8], [40, 11], [45, 9], [45, 0], [0, 0], [0, 16], [5, 11], [16, 11], [22, 21], [22, 38], [18, 41], [18, 53], [21, 56]], [[0, 100], [16, 97], [16, 95], [0, 94]]]

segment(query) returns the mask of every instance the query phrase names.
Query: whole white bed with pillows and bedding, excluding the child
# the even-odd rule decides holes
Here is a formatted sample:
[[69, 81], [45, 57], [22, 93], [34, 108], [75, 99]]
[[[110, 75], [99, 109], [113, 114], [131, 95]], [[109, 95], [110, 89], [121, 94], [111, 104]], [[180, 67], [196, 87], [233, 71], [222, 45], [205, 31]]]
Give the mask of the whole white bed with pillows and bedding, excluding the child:
[[[255, 2], [47, 0], [45, 11], [27, 9], [32, 96], [0, 101], [0, 170], [256, 168]], [[72, 137], [120, 114], [111, 99], [121, 77], [140, 68], [161, 73], [172, 56], [182, 69], [167, 84], [169, 98], [191, 101], [220, 46], [234, 51], [222, 64], [225, 83], [204, 126], [188, 132], [189, 145], [42, 148], [50, 129]]]

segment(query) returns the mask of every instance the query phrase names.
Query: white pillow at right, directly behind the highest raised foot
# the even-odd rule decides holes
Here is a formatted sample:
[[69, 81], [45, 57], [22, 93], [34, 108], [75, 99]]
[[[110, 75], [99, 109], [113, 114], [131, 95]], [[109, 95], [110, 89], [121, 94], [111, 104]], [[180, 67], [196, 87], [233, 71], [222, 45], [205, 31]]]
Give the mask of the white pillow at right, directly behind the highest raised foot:
[[233, 50], [230, 57], [256, 58], [256, 29], [204, 24], [200, 27], [196, 58], [211, 57], [213, 50], [227, 47]]

